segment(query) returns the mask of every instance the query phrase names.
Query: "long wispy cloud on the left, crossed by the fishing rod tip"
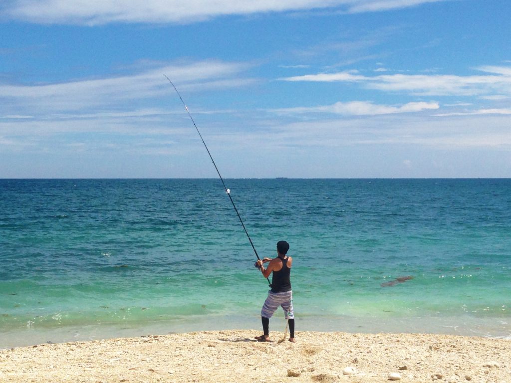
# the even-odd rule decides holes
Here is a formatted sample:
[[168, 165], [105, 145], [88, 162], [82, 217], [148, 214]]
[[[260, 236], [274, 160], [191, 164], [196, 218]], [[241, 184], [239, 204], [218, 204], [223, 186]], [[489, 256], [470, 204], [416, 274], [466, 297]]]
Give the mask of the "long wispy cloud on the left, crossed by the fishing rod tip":
[[43, 85], [0, 84], [0, 116], [2, 104], [9, 104], [6, 115], [12, 116], [13, 111], [17, 115], [34, 111], [60, 113], [158, 97], [173, 91], [164, 74], [173, 79], [180, 89], [240, 86], [251, 81], [236, 78], [244, 69], [246, 65], [241, 63], [202, 61], [189, 65], [166, 65], [133, 75], [103, 79]]

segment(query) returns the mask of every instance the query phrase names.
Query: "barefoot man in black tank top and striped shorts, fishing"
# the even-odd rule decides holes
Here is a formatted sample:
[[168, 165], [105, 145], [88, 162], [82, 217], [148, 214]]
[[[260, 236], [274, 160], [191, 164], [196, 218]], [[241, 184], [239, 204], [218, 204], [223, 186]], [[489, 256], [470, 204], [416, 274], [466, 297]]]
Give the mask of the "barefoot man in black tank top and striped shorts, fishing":
[[[268, 298], [264, 302], [261, 310], [261, 321], [263, 322], [263, 335], [255, 337], [260, 342], [271, 342], [269, 338], [270, 318], [281, 306], [284, 309], [285, 317], [289, 325], [289, 342], [294, 340], [294, 314], [293, 314], [293, 291], [291, 290], [291, 266], [293, 258], [286, 254], [289, 250], [289, 244], [286, 241], [277, 242], [277, 257], [258, 259], [257, 263], [265, 278], [271, 276], [271, 290], [268, 292]], [[270, 262], [265, 269], [264, 264]]]

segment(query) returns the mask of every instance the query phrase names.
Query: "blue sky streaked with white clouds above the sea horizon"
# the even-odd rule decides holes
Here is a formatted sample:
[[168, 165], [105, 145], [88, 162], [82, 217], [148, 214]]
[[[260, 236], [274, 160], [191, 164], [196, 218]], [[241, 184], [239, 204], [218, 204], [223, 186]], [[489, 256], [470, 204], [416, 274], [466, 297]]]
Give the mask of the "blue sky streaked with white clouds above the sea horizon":
[[3, 0], [0, 178], [511, 177], [508, 0]]

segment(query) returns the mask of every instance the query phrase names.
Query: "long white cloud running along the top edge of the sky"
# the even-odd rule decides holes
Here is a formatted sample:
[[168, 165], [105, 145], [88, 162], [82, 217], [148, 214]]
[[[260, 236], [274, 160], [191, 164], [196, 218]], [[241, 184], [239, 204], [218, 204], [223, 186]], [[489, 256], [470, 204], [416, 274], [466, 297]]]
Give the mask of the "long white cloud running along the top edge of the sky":
[[[307, 11], [377, 12], [448, 0], [10, 0], [4, 17], [40, 23], [98, 25], [110, 22], [196, 22], [222, 15]], [[0, 8], [1, 9], [1, 8]]]

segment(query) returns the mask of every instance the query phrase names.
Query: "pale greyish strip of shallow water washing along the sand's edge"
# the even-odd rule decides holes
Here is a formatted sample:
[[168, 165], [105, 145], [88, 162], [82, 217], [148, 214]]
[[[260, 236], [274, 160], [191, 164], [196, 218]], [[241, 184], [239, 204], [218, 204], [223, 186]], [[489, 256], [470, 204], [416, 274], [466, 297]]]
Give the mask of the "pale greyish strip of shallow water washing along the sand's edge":
[[[223, 317], [193, 316], [176, 321], [147, 321], [114, 324], [0, 326], [0, 350], [27, 347], [43, 343], [83, 342], [112, 338], [136, 338], [144, 334], [188, 333], [194, 331], [247, 330], [259, 328], [261, 317], [230, 315]], [[275, 315], [270, 330], [284, 329], [281, 313]], [[511, 327], [503, 318], [486, 317], [399, 317], [367, 318], [350, 316], [300, 316], [296, 318], [300, 331], [347, 333], [431, 333], [467, 337], [511, 339]]]

